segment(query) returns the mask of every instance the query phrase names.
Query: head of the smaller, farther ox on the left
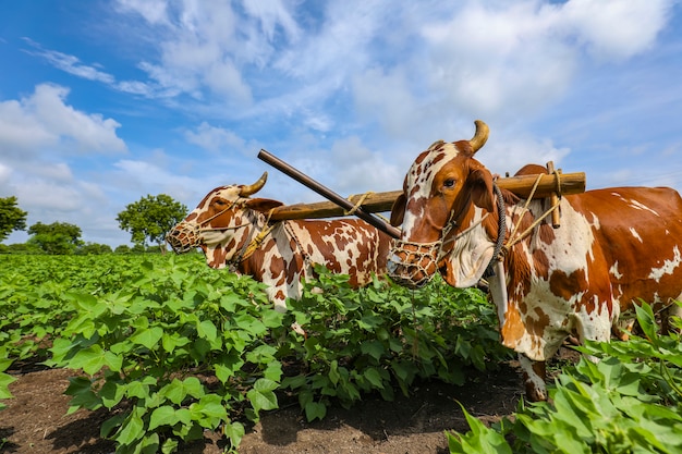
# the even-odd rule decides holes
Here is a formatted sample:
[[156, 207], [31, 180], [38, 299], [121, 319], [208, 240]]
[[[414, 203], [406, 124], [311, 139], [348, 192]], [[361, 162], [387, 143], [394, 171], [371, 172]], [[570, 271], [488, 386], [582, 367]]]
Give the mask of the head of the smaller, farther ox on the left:
[[282, 205], [277, 200], [249, 198], [263, 188], [267, 177], [265, 172], [251, 185], [215, 188], [166, 235], [166, 241], [176, 254], [200, 247], [208, 266], [224, 268], [248, 243], [254, 230], [263, 226], [263, 213]]

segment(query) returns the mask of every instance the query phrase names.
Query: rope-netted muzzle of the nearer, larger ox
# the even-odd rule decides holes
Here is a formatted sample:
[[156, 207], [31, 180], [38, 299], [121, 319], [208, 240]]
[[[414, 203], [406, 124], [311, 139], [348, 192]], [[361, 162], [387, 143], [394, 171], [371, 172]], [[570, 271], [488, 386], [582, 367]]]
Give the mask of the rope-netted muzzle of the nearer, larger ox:
[[426, 285], [438, 271], [441, 242], [410, 243], [395, 241], [388, 258], [388, 274], [407, 289]]

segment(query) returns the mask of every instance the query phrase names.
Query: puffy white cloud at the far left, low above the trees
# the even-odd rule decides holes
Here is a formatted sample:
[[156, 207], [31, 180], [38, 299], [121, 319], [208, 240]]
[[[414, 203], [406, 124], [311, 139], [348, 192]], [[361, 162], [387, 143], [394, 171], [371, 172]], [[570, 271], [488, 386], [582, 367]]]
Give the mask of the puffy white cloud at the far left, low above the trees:
[[[64, 87], [41, 84], [25, 98], [0, 101], [0, 196], [15, 195], [29, 225], [83, 228], [88, 213], [106, 211], [99, 182], [75, 174], [70, 159], [77, 164], [84, 155], [127, 150], [117, 121], [69, 106], [68, 95]], [[10, 242], [25, 241], [25, 233], [16, 235]]]

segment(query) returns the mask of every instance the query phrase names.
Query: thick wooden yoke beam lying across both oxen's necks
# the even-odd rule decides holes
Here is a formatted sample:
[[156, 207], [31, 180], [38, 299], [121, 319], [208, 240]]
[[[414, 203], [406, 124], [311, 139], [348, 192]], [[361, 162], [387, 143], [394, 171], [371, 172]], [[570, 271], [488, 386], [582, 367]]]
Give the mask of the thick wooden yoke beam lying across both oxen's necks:
[[[500, 177], [497, 184], [502, 189], [511, 191], [519, 197], [528, 198], [533, 185], [537, 180], [537, 175], [522, 175]], [[559, 184], [558, 184], [559, 183]], [[545, 198], [556, 194], [557, 187], [560, 187], [559, 195], [579, 194], [585, 192], [585, 173], [562, 173], [560, 182], [557, 182], [557, 175], [541, 175], [537, 189], [533, 198]], [[402, 191], [391, 191], [388, 193], [368, 194], [362, 203], [363, 210], [366, 212], [386, 212], [390, 211], [393, 201], [402, 194]], [[356, 195], [350, 198], [351, 203], [356, 204], [363, 195]], [[349, 216], [345, 210], [331, 201], [318, 201], [314, 204], [295, 204], [278, 207], [272, 211], [271, 219], [281, 221], [284, 219], [321, 219], [337, 218]]]

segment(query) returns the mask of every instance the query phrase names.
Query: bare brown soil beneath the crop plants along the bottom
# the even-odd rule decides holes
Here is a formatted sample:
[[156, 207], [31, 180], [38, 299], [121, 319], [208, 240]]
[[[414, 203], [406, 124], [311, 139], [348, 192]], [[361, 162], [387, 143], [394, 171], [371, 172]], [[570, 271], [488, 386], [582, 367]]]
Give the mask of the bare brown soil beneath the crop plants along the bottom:
[[[13, 398], [0, 410], [0, 453], [108, 454], [112, 442], [99, 438], [106, 410], [78, 410], [66, 415], [63, 392], [70, 370], [10, 370], [17, 381], [10, 385]], [[522, 395], [515, 361], [499, 370], [471, 371], [463, 386], [426, 382], [412, 395], [398, 393], [394, 402], [366, 396], [351, 409], [332, 407], [322, 421], [306, 422], [295, 401], [282, 398], [280, 409], [264, 413], [249, 427], [239, 449], [243, 454], [405, 454], [448, 453], [443, 431], [466, 432], [468, 426], [458, 405], [489, 424], [514, 413]], [[184, 446], [190, 454], [221, 453], [219, 437], [206, 432], [200, 443]]]

